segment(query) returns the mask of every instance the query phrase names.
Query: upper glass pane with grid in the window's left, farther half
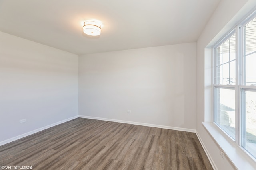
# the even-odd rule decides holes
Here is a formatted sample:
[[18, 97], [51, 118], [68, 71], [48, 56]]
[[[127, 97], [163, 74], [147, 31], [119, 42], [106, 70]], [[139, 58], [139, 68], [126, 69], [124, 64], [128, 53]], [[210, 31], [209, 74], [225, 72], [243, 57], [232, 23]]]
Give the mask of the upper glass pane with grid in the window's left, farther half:
[[216, 48], [216, 84], [236, 84], [236, 36]]

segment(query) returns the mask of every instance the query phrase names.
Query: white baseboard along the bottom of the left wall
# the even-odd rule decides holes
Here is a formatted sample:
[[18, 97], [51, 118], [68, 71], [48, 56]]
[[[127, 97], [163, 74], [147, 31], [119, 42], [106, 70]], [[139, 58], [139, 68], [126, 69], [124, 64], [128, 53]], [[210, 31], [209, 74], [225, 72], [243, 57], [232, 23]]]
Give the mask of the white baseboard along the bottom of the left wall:
[[32, 135], [32, 134], [34, 134], [34, 133], [40, 132], [40, 131], [42, 131], [42, 130], [48, 129], [48, 128], [50, 128], [50, 127], [59, 125], [59, 124], [61, 124], [61, 123], [65, 123], [65, 122], [70, 121], [70, 120], [72, 120], [72, 119], [76, 119], [76, 118], [78, 118], [78, 116], [70, 117], [70, 118], [68, 118], [68, 119], [65, 119], [65, 120], [62, 120], [62, 121], [58, 121], [58, 122], [53, 123], [53, 124], [51, 124], [51, 125], [47, 125], [47, 126], [45, 126], [45, 127], [41, 127], [41, 128], [39, 128], [39, 129], [36, 129], [36, 130], [30, 131], [30, 132], [24, 133], [24, 134], [22, 134], [22, 135], [18, 135], [18, 136], [16, 136], [16, 137], [12, 137], [12, 138], [7, 139], [7, 140], [4, 140], [4, 141], [0, 141], [0, 146], [1, 146], [1, 145], [4, 145], [4, 144], [6, 144], [6, 143], [10, 143], [10, 142], [12, 142], [12, 141], [16, 141], [16, 140], [21, 139], [21, 138], [23, 138], [23, 137], [26, 137], [26, 136], [28, 136], [28, 135]]

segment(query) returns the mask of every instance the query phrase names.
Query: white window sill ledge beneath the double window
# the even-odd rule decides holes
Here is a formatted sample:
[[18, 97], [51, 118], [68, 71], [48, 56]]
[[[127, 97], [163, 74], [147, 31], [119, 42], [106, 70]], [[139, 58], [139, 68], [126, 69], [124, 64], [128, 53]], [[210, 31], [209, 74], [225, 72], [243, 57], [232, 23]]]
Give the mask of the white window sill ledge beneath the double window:
[[213, 137], [224, 155], [238, 170], [255, 170], [256, 161], [239, 147], [230, 137], [221, 131], [214, 123], [202, 122], [202, 125]]

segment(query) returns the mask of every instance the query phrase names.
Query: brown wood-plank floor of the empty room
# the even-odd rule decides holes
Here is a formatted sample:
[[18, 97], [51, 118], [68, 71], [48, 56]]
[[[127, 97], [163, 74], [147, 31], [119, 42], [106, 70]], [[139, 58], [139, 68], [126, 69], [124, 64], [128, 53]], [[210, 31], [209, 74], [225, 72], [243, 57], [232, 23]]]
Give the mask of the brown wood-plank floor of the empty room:
[[0, 146], [0, 166], [212, 170], [195, 133], [84, 118]]

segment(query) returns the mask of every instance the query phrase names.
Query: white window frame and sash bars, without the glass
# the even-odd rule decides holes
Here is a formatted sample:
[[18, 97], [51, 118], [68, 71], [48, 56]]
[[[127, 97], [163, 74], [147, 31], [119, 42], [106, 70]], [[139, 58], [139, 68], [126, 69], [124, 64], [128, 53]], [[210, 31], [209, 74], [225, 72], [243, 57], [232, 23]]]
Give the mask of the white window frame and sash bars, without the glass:
[[[253, 160], [256, 160], [256, 155], [250, 154], [245, 148], [243, 148], [246, 145], [246, 142], [242, 139], [242, 133], [246, 131], [245, 123], [243, 121], [246, 121], [244, 119], [244, 115], [242, 114], [244, 112], [245, 103], [242, 103], [244, 100], [244, 96], [242, 91], [256, 91], [256, 86], [249, 86], [246, 85], [246, 77], [245, 77], [245, 68], [244, 68], [244, 26], [248, 24], [251, 20], [256, 18], [256, 12], [252, 13], [250, 16], [248, 16], [243, 22], [238, 24], [232, 31], [230, 31], [228, 34], [226, 34], [218, 43], [216, 43], [212, 47], [212, 59], [213, 59], [213, 71], [212, 71], [212, 94], [213, 94], [213, 123], [216, 124], [230, 139], [235, 141], [236, 145], [240, 147], [242, 150], [244, 150]], [[233, 34], [236, 34], [236, 84], [235, 85], [224, 85], [224, 84], [216, 84], [216, 48], [219, 47], [222, 43], [224, 43], [227, 39], [229, 39]], [[215, 88], [234, 88], [235, 90], [235, 139], [233, 139], [226, 131], [224, 131], [217, 123], [215, 123], [215, 112], [216, 112], [216, 92]], [[246, 146], [245, 146], [246, 147]], [[255, 151], [256, 152], [256, 151]]]

